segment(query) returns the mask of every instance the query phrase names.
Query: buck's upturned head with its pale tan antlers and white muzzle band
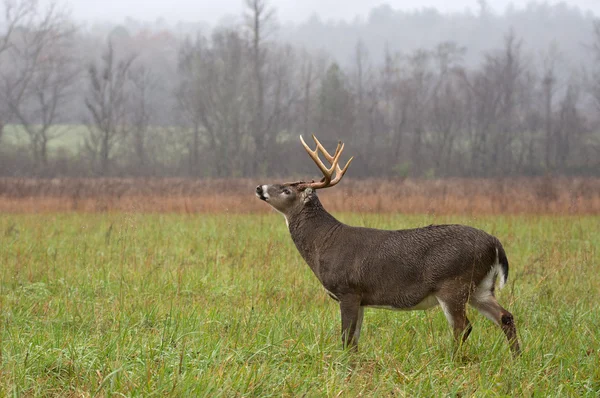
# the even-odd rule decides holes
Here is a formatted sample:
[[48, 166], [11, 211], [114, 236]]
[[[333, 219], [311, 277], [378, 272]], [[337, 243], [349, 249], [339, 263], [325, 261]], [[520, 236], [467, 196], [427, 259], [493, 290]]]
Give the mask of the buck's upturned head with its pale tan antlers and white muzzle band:
[[[352, 162], [353, 158], [350, 158], [343, 169], [339, 166], [340, 156], [344, 150], [344, 144], [342, 142], [338, 143], [335, 153], [332, 156], [327, 152], [323, 145], [321, 145], [319, 140], [317, 140], [317, 137], [313, 135], [313, 139], [317, 144], [317, 147], [314, 150], [310, 149], [310, 147], [306, 145], [306, 142], [304, 142], [302, 136], [300, 136], [300, 141], [302, 142], [304, 149], [306, 149], [308, 155], [314, 160], [323, 173], [323, 178], [320, 181], [296, 181], [286, 182], [284, 184], [259, 185], [256, 187], [256, 196], [269, 203], [275, 210], [283, 213], [286, 217], [302, 210], [302, 208], [310, 202], [315, 190], [333, 187], [340, 182], [346, 173], [346, 170], [348, 170], [350, 162]], [[319, 158], [319, 151], [331, 164], [330, 167], [326, 167], [325, 164], [323, 164]]]

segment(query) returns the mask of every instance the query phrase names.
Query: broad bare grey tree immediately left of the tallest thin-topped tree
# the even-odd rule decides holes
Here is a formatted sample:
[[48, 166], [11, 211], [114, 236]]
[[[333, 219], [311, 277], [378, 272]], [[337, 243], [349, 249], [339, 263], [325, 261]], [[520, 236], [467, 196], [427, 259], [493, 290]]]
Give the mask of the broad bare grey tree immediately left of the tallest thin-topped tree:
[[[192, 150], [198, 151], [193, 158], [191, 173], [198, 175], [202, 160], [208, 166], [203, 170], [209, 176], [227, 177], [240, 175], [248, 157], [253, 114], [247, 67], [248, 45], [233, 30], [221, 30], [213, 34], [210, 42], [199, 40], [182, 48], [180, 71], [184, 96], [180, 103], [186, 107], [186, 115], [193, 126]], [[205, 149], [200, 156], [200, 147]]]

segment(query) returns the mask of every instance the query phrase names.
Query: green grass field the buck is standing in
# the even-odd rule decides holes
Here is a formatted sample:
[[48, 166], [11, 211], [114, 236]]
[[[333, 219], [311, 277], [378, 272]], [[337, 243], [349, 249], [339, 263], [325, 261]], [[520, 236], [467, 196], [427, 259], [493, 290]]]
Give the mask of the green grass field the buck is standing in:
[[590, 396], [600, 391], [600, 217], [342, 214], [463, 222], [511, 263], [523, 355], [474, 311], [367, 310], [360, 352], [275, 214], [1, 215], [0, 396]]

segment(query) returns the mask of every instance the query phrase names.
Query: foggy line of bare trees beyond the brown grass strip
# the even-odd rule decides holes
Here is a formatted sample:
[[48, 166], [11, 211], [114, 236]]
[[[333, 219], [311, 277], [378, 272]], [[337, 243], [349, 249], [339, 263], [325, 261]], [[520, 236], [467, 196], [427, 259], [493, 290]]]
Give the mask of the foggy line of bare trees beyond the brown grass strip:
[[358, 40], [340, 64], [275, 40], [266, 0], [181, 39], [3, 7], [3, 176], [311, 175], [298, 135], [313, 132], [347, 143], [354, 177], [600, 175], [600, 22], [565, 73], [512, 30], [475, 67], [451, 41], [371, 59]]

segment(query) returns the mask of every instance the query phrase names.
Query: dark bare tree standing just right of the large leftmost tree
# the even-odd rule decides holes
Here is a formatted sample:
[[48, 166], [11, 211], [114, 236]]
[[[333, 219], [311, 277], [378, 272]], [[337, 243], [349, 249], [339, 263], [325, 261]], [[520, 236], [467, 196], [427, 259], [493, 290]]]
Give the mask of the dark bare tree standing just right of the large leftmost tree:
[[88, 69], [89, 91], [85, 105], [91, 123], [85, 146], [101, 176], [109, 174], [113, 150], [129, 131], [127, 85], [134, 59], [135, 56], [119, 59], [109, 41], [101, 65], [92, 64]]

